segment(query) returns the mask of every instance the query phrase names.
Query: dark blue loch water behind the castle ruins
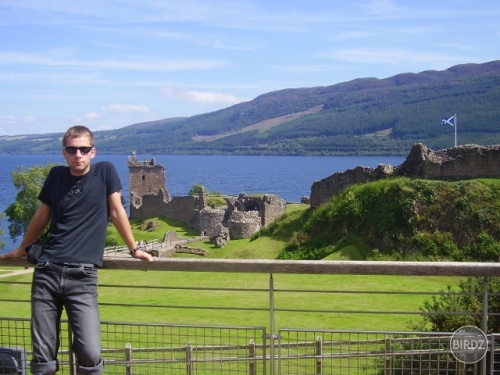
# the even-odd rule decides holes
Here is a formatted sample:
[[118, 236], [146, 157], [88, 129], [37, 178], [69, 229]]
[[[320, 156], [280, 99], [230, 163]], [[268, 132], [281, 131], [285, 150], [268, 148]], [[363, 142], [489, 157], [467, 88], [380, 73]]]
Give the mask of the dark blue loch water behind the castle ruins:
[[[399, 156], [229, 156], [229, 155], [137, 155], [137, 159], [155, 158], [166, 170], [167, 189], [171, 196], [186, 195], [195, 184], [221, 194], [276, 194], [287, 202], [300, 202], [309, 196], [314, 181], [357, 166], [374, 168], [378, 164], [400, 165]], [[100, 155], [94, 161], [112, 162], [123, 184], [128, 205], [129, 176], [127, 155]], [[11, 172], [48, 163], [65, 164], [62, 155], [0, 155], [0, 211], [14, 202], [17, 191]], [[6, 252], [15, 244], [8, 235], [7, 217], [0, 221]]]

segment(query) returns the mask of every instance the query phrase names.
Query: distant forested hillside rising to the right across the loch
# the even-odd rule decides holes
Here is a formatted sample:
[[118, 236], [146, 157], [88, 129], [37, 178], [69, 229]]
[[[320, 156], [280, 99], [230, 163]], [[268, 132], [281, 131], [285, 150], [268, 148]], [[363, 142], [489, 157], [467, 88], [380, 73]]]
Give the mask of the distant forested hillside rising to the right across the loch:
[[[100, 131], [101, 153], [405, 155], [414, 143], [500, 144], [500, 61], [285, 89], [216, 112]], [[53, 153], [61, 134], [0, 137], [0, 153]]]

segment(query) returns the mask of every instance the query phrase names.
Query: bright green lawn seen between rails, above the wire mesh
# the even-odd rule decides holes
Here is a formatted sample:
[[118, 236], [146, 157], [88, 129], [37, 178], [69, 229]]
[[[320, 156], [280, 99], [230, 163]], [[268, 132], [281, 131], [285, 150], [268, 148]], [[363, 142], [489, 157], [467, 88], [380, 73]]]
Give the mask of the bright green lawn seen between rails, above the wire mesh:
[[[7, 267], [3, 267], [3, 269]], [[203, 272], [100, 270], [99, 300], [103, 321], [193, 325], [266, 326], [269, 328], [269, 275]], [[373, 294], [381, 291], [438, 292], [458, 278], [352, 275], [273, 275], [277, 328], [408, 330], [420, 321], [419, 307], [428, 295]], [[1, 298], [29, 301], [31, 275], [1, 281]], [[110, 287], [120, 286], [120, 287]], [[149, 287], [257, 289], [170, 290]], [[260, 291], [262, 289], [262, 291]], [[303, 292], [305, 289], [322, 292]], [[335, 293], [333, 292], [335, 291]], [[369, 291], [372, 294], [357, 293]], [[115, 306], [110, 306], [115, 304]], [[129, 306], [142, 304], [143, 307]], [[183, 306], [197, 308], [181, 308]], [[238, 310], [249, 308], [250, 311]], [[293, 311], [282, 311], [293, 310]], [[315, 310], [303, 312], [302, 310]], [[376, 311], [411, 312], [382, 315]], [[328, 312], [333, 311], [333, 312]], [[356, 311], [349, 313], [347, 311]], [[29, 317], [29, 303], [2, 303], [0, 316]]]

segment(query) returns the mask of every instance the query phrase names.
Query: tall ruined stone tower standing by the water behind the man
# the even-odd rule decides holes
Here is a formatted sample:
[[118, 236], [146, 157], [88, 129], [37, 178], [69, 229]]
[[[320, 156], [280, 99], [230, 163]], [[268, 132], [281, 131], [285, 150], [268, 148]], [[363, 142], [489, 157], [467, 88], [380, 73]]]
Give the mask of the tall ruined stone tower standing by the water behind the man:
[[130, 176], [130, 205], [138, 208], [142, 206], [145, 195], [161, 195], [163, 201], [170, 201], [167, 190], [167, 178], [165, 167], [156, 164], [155, 159], [150, 161], [137, 160], [136, 153], [128, 158], [128, 169]]

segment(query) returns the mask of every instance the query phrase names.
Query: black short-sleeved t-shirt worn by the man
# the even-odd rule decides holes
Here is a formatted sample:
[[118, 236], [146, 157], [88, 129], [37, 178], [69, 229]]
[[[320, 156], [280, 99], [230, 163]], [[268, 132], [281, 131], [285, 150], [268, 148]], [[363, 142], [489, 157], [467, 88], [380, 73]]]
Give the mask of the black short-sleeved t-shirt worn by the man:
[[38, 195], [52, 208], [50, 238], [40, 261], [92, 263], [101, 266], [106, 240], [108, 196], [120, 191], [120, 177], [107, 161], [91, 164], [84, 176], [69, 167], [50, 170]]

